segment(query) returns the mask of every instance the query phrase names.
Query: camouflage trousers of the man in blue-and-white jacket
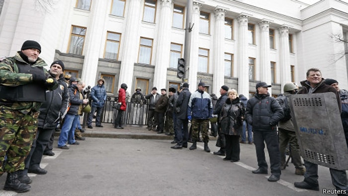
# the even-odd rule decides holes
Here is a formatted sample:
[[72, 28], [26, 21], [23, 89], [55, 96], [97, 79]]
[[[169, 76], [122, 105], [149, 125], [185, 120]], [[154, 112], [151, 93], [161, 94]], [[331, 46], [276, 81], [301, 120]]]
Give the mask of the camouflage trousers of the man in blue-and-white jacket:
[[208, 136], [208, 128], [209, 128], [209, 119], [192, 119], [191, 120], [192, 127], [192, 140], [198, 141], [199, 139], [199, 131], [202, 133], [203, 142], [207, 143], [209, 141]]

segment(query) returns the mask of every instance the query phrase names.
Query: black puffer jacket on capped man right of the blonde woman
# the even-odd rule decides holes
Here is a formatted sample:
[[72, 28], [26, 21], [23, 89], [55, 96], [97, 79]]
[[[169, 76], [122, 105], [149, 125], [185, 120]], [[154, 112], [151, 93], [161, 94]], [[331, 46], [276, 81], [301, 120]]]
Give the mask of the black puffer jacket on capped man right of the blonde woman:
[[253, 130], [276, 130], [278, 121], [284, 117], [284, 112], [278, 101], [267, 95], [255, 94], [247, 103], [246, 119], [253, 125]]

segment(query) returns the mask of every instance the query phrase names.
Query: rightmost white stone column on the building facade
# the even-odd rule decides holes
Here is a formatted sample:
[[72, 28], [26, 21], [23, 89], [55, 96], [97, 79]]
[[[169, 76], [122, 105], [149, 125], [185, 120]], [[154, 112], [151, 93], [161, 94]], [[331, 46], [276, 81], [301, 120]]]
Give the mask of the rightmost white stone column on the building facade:
[[283, 26], [278, 29], [280, 35], [279, 44], [279, 68], [281, 92], [286, 83], [292, 82], [290, 75], [290, 48], [289, 48], [289, 27]]

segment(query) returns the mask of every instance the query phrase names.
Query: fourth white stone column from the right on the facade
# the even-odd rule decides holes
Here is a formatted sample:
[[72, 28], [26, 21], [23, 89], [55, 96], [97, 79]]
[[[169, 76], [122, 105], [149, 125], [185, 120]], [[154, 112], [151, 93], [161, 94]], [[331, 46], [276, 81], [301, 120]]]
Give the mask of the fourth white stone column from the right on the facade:
[[214, 65], [213, 65], [213, 93], [220, 95], [219, 91], [225, 83], [224, 40], [225, 40], [225, 14], [226, 10], [216, 9], [214, 32]]

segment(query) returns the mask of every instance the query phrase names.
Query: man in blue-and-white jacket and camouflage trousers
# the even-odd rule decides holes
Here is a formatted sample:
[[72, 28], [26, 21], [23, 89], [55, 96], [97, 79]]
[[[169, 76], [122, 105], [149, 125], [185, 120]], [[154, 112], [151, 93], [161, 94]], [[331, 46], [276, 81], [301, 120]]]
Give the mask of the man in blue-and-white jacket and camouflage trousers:
[[191, 120], [193, 140], [190, 150], [197, 148], [196, 143], [199, 139], [199, 130], [201, 130], [204, 142], [204, 151], [210, 152], [210, 149], [208, 147], [208, 128], [209, 118], [211, 118], [212, 115], [213, 104], [211, 102], [210, 95], [205, 92], [205, 84], [200, 82], [198, 84], [198, 90], [191, 95], [187, 106], [187, 118]]

